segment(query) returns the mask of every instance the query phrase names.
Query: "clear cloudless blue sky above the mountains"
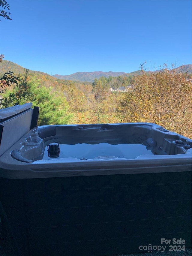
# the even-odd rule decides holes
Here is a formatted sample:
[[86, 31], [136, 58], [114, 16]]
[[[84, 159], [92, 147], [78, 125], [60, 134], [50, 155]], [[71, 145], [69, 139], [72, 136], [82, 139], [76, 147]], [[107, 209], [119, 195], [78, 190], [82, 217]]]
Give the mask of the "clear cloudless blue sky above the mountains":
[[7, 0], [0, 54], [48, 74], [191, 64], [191, 1]]

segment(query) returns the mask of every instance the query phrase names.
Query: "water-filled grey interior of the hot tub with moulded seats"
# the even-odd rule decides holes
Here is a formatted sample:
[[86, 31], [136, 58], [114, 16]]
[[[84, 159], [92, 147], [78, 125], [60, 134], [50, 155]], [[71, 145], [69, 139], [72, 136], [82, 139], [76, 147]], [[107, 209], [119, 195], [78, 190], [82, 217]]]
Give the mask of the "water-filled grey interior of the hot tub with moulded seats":
[[[20, 141], [20, 154], [30, 161], [50, 158], [134, 159], [140, 155], [185, 154], [190, 140], [154, 124], [52, 125]], [[52, 151], [51, 151], [52, 150]]]

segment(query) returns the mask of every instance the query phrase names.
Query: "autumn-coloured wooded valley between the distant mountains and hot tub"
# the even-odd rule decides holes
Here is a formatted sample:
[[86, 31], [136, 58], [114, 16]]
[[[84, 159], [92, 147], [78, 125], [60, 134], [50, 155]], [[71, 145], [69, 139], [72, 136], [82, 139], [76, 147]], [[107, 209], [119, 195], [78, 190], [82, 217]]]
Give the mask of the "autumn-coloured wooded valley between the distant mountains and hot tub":
[[[0, 65], [3, 63], [11, 64], [3, 61]], [[191, 138], [191, 75], [181, 70], [141, 69], [134, 76], [100, 77], [88, 83], [19, 68], [18, 86], [2, 86], [0, 80], [0, 104], [32, 102], [40, 107], [39, 125], [152, 122]]]

